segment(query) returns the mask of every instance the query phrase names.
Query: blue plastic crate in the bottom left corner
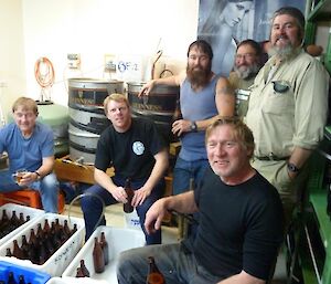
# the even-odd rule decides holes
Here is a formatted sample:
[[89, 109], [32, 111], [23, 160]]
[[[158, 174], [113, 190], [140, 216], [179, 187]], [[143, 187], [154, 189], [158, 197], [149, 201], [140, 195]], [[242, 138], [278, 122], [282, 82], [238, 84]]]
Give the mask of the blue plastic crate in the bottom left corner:
[[24, 275], [25, 283], [32, 284], [45, 284], [51, 278], [47, 273], [0, 261], [0, 280], [7, 281], [9, 272], [13, 272], [17, 283], [19, 283], [20, 275]]

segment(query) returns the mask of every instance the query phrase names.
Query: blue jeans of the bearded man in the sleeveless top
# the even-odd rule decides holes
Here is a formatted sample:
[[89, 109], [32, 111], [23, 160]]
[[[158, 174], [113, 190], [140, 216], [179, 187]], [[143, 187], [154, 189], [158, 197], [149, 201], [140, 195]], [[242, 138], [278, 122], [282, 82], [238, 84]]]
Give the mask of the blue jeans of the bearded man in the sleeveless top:
[[[193, 179], [193, 189], [196, 188], [209, 166], [209, 160], [186, 161], [178, 157], [173, 169], [173, 194], [180, 194], [190, 190], [190, 180]], [[199, 222], [199, 213], [194, 213], [193, 218]], [[188, 236], [195, 236], [197, 230], [196, 223], [189, 224]]]

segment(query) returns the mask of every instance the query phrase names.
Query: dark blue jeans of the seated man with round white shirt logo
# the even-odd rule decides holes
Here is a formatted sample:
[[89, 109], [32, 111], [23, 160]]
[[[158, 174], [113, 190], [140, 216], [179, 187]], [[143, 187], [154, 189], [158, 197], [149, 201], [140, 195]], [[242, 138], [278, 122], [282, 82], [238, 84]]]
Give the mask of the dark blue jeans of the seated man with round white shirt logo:
[[[122, 187], [125, 183], [125, 179], [122, 179], [122, 178], [114, 177], [111, 179], [116, 186]], [[141, 188], [145, 185], [145, 182], [146, 182], [146, 180], [131, 181], [131, 187], [134, 190], [136, 190], [136, 189]], [[143, 203], [136, 208], [141, 229], [146, 236], [147, 244], [161, 243], [161, 230], [158, 230], [154, 233], [148, 234], [145, 230], [143, 223], [145, 223], [145, 219], [146, 219], [146, 212], [152, 206], [152, 203], [154, 203], [158, 199], [160, 199], [163, 196], [164, 188], [166, 188], [164, 179], [161, 179], [159, 181], [159, 183], [153, 188], [150, 196], [146, 198]], [[85, 191], [85, 193], [92, 193], [92, 194], [98, 196], [99, 198], [102, 198], [104, 200], [105, 206], [118, 203], [118, 201], [111, 196], [111, 193], [109, 191], [107, 191], [106, 189], [104, 189], [103, 187], [100, 187], [98, 185], [92, 186], [90, 188], [88, 188]], [[93, 196], [84, 196], [82, 198], [81, 206], [82, 206], [82, 210], [84, 213], [84, 220], [85, 220], [85, 230], [86, 230], [85, 240], [87, 241], [88, 238], [92, 235], [93, 231], [98, 225], [106, 224], [106, 219], [105, 219], [105, 215], [102, 217], [103, 204], [98, 198], [93, 197]], [[100, 220], [100, 222], [98, 223], [99, 220]]]

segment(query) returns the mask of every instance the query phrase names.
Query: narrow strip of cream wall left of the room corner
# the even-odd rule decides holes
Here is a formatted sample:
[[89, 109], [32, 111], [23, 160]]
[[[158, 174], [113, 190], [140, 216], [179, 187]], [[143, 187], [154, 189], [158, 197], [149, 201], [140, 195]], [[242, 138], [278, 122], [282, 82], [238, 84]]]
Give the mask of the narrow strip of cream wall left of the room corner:
[[25, 92], [21, 0], [0, 0], [0, 125]]

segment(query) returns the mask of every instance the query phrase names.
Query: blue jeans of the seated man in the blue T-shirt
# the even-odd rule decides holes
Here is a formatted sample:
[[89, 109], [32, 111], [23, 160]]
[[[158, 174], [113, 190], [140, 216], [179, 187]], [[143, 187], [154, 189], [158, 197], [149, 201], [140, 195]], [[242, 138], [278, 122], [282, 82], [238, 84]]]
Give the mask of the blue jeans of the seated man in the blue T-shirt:
[[[12, 178], [12, 172], [9, 170], [0, 170], [0, 191], [10, 192], [17, 190], [23, 190], [28, 187], [20, 187]], [[57, 194], [58, 194], [58, 181], [55, 173], [43, 177], [39, 181], [33, 181], [29, 185], [29, 189], [39, 191], [43, 204], [43, 209], [46, 212], [57, 213]]]

